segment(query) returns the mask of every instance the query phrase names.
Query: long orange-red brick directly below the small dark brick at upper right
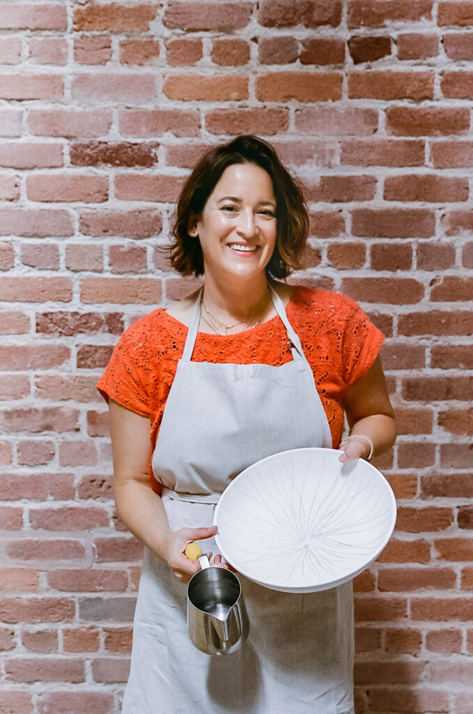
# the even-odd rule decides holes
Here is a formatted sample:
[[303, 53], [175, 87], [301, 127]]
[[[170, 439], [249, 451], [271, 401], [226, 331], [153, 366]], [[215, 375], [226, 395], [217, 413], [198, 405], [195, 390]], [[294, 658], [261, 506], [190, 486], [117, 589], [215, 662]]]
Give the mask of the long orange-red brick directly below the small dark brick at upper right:
[[364, 71], [348, 76], [351, 99], [434, 99], [432, 72]]

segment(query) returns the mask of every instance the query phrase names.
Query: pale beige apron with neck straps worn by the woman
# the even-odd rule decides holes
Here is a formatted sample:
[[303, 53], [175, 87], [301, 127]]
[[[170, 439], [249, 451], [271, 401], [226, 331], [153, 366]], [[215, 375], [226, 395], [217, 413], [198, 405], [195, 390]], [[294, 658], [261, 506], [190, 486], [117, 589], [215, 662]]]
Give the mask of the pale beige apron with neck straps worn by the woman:
[[[173, 531], [211, 526], [220, 494], [251, 463], [332, 446], [312, 370], [272, 296], [293, 353], [279, 367], [193, 362], [200, 297], [195, 305], [153, 456]], [[201, 545], [218, 553], [213, 539]], [[351, 583], [296, 595], [241, 580], [250, 636], [208, 656], [188, 638], [185, 585], [145, 550], [123, 714], [353, 713]]]

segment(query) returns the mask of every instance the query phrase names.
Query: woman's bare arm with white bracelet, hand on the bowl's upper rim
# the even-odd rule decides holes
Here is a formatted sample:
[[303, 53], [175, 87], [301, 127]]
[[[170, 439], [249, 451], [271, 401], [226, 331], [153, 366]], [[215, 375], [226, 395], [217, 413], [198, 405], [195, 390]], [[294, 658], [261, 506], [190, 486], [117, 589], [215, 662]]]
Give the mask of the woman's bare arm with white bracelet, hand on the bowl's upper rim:
[[[350, 436], [361, 434], [371, 439], [373, 456], [387, 451], [396, 439], [396, 422], [387, 393], [380, 357], [367, 374], [347, 391], [343, 401]], [[353, 438], [344, 446], [340, 461], [367, 458], [370, 446], [365, 439]]]

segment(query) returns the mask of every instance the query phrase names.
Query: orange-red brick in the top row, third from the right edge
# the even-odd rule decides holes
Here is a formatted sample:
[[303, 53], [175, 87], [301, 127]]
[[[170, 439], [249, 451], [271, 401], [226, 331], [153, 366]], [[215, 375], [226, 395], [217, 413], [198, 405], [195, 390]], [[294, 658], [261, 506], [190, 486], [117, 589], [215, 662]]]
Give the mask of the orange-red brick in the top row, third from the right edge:
[[340, 0], [312, 0], [295, 3], [291, 0], [263, 0], [260, 3], [258, 22], [264, 27], [305, 27], [330, 25], [337, 27], [342, 21]]

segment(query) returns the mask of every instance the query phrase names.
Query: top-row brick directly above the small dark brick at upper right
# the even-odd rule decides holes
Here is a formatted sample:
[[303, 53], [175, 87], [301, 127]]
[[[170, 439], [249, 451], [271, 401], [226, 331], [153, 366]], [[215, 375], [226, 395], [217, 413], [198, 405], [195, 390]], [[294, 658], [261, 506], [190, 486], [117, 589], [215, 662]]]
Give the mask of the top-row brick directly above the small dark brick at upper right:
[[351, 0], [348, 27], [383, 27], [394, 22], [432, 19], [432, 0]]

